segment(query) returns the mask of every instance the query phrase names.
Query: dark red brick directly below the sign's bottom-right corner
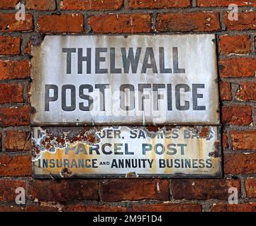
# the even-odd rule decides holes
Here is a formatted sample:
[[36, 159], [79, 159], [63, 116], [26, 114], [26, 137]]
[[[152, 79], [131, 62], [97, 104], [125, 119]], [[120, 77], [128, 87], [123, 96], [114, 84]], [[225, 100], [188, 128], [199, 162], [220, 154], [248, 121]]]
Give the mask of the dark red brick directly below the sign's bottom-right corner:
[[174, 199], [228, 199], [228, 189], [240, 191], [238, 179], [177, 179], [172, 180]]

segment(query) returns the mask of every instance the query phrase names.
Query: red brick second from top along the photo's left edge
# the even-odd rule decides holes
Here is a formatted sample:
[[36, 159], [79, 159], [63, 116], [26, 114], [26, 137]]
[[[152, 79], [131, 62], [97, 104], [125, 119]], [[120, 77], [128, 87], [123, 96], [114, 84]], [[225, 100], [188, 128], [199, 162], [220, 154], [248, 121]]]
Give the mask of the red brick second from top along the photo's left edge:
[[0, 31], [28, 31], [33, 30], [33, 18], [31, 14], [26, 14], [26, 20], [16, 20], [15, 13], [0, 14]]

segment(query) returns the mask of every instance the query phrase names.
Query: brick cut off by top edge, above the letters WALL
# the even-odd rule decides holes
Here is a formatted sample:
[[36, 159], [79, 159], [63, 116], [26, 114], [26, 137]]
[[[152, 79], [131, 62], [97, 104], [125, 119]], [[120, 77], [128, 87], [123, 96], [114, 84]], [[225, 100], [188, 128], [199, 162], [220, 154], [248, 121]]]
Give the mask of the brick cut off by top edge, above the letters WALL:
[[191, 6], [190, 0], [128, 0], [127, 8], [179, 8]]

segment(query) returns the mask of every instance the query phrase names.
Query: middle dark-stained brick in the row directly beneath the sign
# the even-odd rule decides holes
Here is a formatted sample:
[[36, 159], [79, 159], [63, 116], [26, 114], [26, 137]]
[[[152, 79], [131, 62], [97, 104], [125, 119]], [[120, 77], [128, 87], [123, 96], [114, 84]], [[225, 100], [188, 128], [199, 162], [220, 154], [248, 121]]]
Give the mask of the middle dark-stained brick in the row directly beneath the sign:
[[169, 200], [169, 182], [165, 179], [113, 179], [101, 184], [103, 201], [157, 199]]

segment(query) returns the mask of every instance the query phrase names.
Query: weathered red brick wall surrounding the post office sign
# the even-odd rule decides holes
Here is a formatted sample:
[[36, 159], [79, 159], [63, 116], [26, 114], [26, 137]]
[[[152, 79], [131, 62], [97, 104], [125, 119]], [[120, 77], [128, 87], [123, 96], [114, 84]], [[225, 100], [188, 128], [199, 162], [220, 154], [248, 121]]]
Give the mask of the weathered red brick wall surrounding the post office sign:
[[[26, 21], [16, 21], [17, 3], [0, 1], [0, 211], [256, 210], [255, 0], [21, 0]], [[230, 3], [238, 21], [228, 20]], [[218, 37], [223, 179], [32, 179], [32, 35], [175, 32]], [[19, 186], [22, 207], [14, 201]], [[230, 187], [238, 205], [227, 204]]]

